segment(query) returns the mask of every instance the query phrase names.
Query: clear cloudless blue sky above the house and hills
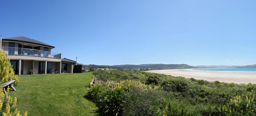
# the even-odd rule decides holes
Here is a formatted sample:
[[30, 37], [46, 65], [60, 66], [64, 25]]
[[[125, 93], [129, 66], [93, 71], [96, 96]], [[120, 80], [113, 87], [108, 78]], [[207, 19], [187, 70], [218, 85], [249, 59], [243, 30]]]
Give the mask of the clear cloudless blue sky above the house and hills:
[[0, 35], [84, 64], [256, 64], [255, 0], [0, 0]]

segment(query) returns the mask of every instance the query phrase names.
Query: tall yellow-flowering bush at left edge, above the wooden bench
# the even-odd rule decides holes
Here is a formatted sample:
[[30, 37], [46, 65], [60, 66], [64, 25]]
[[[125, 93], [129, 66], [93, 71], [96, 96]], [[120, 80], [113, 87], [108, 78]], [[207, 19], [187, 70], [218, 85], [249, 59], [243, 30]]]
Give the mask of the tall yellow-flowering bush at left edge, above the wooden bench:
[[8, 82], [9, 77], [12, 77], [15, 82], [13, 85], [19, 83], [19, 78], [15, 75], [13, 71], [12, 65], [10, 60], [7, 58], [7, 53], [4, 52], [2, 49], [0, 50], [0, 84]]

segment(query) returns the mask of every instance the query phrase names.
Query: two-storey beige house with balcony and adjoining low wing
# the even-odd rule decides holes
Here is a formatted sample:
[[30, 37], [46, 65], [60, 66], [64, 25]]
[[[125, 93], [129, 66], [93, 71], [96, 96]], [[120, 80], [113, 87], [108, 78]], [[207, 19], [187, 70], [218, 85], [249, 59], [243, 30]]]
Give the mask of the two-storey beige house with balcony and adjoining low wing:
[[30, 74], [30, 69], [35, 74], [73, 73], [76, 62], [52, 52], [52, 45], [24, 36], [0, 38], [0, 47], [7, 52], [15, 74]]

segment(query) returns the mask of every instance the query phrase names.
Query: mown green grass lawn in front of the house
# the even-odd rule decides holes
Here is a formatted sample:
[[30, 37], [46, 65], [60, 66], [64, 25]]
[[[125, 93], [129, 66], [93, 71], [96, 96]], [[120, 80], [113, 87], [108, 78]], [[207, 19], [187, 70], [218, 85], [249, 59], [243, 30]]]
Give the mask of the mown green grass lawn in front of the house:
[[[93, 79], [91, 72], [76, 74], [20, 75], [17, 108], [29, 116], [95, 116], [95, 103], [83, 96]], [[12, 89], [11, 89], [12, 90]]]

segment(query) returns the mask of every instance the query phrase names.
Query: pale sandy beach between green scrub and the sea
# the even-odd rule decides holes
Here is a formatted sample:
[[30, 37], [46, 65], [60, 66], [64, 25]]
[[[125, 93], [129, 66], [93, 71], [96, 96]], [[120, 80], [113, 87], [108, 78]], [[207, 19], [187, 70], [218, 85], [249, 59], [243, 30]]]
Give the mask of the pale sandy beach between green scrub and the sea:
[[153, 70], [146, 71], [159, 74], [168, 74], [172, 76], [184, 76], [185, 78], [195, 78], [200, 80], [215, 81], [226, 83], [254, 83], [256, 84], [256, 73], [249, 72], [205, 72], [205, 71], [187, 71], [185, 69]]

